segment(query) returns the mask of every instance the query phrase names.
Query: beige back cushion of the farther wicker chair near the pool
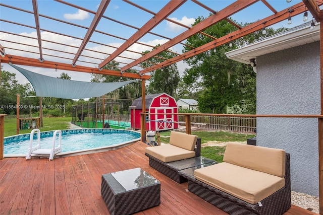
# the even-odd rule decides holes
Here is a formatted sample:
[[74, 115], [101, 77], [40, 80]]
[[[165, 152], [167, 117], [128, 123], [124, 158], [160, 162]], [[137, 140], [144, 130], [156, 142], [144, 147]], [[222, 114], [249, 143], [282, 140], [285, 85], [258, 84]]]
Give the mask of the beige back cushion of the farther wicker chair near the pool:
[[170, 144], [189, 150], [194, 151], [197, 136], [178, 131], [171, 131]]

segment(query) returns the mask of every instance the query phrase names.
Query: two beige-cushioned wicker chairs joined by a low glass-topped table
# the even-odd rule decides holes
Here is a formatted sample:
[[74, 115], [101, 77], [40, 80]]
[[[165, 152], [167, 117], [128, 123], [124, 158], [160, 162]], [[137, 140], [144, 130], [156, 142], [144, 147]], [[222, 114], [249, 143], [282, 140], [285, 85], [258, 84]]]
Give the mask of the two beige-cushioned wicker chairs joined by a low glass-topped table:
[[[189, 191], [229, 214], [283, 214], [291, 207], [290, 155], [284, 150], [229, 143], [222, 163], [210, 159], [204, 163], [200, 154], [200, 159], [173, 156], [165, 150], [176, 146], [192, 151], [192, 136], [199, 139], [172, 131], [171, 146], [146, 148], [149, 165], [178, 183], [188, 181]], [[201, 162], [182, 169], [172, 165], [183, 167], [192, 159]]]

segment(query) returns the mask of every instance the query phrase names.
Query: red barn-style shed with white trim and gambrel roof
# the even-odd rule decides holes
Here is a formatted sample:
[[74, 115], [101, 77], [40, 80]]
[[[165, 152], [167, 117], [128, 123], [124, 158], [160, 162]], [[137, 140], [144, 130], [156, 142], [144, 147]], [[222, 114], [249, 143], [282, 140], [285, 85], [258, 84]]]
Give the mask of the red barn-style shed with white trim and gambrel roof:
[[[178, 128], [178, 106], [176, 100], [166, 93], [146, 95], [146, 130], [171, 130]], [[130, 108], [131, 127], [140, 129], [140, 113], [142, 112], [142, 97], [135, 99]], [[163, 113], [163, 114], [155, 114]]]

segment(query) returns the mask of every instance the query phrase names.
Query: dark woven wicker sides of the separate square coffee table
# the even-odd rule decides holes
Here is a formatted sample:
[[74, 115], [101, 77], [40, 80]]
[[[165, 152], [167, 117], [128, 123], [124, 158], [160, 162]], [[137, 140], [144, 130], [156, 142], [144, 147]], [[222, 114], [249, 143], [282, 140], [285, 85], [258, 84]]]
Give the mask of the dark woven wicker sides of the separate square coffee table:
[[115, 194], [102, 178], [101, 196], [113, 214], [132, 214], [160, 204], [160, 183]]

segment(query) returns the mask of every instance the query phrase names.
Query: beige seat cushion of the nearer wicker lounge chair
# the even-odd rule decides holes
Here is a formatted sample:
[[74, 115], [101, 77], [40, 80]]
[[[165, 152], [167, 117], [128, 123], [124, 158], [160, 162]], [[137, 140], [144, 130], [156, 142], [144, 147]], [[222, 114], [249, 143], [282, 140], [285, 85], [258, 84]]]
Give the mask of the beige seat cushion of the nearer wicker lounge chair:
[[194, 171], [195, 178], [255, 204], [285, 186], [285, 179], [226, 162]]

